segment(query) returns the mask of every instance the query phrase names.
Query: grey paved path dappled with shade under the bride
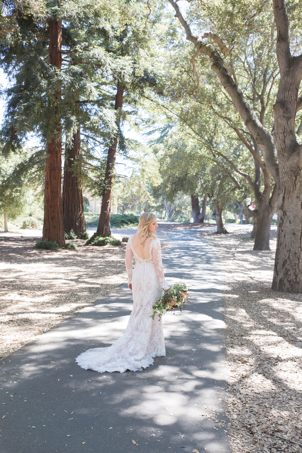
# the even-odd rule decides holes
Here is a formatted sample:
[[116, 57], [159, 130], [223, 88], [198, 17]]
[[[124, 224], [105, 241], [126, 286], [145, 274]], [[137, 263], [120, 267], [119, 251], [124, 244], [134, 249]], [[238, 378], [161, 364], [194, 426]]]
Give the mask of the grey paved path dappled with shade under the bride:
[[2, 362], [1, 453], [230, 452], [219, 260], [194, 231], [168, 236], [167, 281], [189, 284], [192, 304], [164, 315], [166, 357], [135, 373], [99, 374], [75, 363], [86, 348], [125, 332], [131, 292], [120, 285], [118, 295], [96, 300]]

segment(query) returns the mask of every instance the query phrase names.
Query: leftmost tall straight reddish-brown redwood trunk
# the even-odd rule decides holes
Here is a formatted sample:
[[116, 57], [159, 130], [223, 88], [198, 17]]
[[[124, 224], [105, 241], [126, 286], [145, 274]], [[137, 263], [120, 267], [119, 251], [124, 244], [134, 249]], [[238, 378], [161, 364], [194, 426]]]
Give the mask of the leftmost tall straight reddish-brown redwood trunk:
[[[62, 64], [62, 22], [56, 19], [49, 20], [49, 63], [61, 69]], [[59, 90], [50, 104], [57, 104], [61, 96]], [[58, 110], [55, 107], [55, 115]], [[52, 138], [47, 143], [48, 156], [45, 159], [45, 188], [44, 188], [44, 222], [43, 237], [49, 241], [65, 246], [63, 209], [62, 209], [62, 142], [61, 120], [54, 121]]]

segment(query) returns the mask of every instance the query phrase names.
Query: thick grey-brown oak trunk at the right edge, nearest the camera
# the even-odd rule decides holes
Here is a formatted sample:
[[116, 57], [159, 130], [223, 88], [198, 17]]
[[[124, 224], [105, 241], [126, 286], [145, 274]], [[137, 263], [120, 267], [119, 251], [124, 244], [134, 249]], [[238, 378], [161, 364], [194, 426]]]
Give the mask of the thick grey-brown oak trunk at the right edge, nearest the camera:
[[280, 193], [277, 250], [272, 288], [302, 292], [302, 146], [297, 143], [295, 116], [302, 79], [302, 55], [290, 52], [289, 20], [284, 0], [273, 0], [277, 26], [280, 83], [273, 106]]

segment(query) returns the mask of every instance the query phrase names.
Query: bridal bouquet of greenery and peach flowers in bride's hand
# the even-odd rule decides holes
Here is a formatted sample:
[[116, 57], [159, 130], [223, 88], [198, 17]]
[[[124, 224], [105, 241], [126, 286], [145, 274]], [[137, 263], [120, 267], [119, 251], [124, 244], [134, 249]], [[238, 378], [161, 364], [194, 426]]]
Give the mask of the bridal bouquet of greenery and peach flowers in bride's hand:
[[187, 298], [187, 286], [184, 283], [173, 284], [169, 291], [164, 292], [162, 297], [152, 306], [153, 313], [150, 318], [154, 321], [154, 316], [158, 313], [160, 319], [166, 311], [177, 310], [177, 308], [182, 311], [182, 307], [187, 302]]

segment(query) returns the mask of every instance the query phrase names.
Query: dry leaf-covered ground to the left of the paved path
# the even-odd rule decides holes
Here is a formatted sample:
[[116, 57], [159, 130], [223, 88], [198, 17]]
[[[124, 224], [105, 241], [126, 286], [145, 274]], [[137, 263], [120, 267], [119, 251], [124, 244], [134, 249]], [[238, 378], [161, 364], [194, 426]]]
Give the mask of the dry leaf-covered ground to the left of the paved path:
[[0, 357], [28, 343], [127, 279], [125, 244], [34, 250], [35, 239], [0, 238]]

